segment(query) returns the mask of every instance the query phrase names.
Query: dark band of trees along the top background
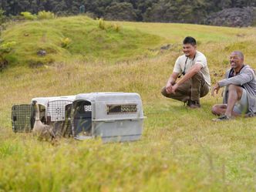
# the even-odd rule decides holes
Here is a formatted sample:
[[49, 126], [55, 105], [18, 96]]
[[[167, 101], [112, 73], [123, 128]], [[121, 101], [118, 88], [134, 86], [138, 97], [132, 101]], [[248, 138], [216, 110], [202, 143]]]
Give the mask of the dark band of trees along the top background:
[[203, 24], [208, 15], [223, 8], [256, 6], [256, 0], [1, 0], [5, 15], [45, 10], [56, 15], [83, 12], [93, 18], [137, 22], [187, 22]]

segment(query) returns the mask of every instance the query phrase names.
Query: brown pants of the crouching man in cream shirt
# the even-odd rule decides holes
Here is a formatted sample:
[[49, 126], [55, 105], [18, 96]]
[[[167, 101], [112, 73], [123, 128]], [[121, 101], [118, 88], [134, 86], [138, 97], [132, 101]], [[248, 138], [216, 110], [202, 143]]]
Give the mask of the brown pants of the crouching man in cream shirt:
[[204, 80], [203, 75], [197, 72], [191, 79], [188, 79], [183, 84], [178, 86], [173, 93], [167, 93], [165, 86], [163, 87], [161, 93], [163, 96], [169, 97], [171, 99], [177, 99], [179, 101], [187, 102], [187, 100], [197, 101], [199, 103], [200, 97], [206, 96], [209, 93], [209, 86]]

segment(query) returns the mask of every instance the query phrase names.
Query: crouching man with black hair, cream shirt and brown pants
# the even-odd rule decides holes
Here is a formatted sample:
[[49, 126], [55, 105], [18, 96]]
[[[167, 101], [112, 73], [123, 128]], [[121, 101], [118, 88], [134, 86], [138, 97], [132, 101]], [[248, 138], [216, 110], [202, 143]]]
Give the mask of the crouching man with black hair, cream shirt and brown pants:
[[[200, 97], [206, 96], [211, 86], [207, 59], [203, 53], [197, 51], [197, 42], [193, 37], [184, 39], [183, 52], [184, 55], [176, 60], [173, 73], [161, 93], [187, 103], [192, 109], [200, 108]], [[181, 74], [184, 77], [176, 83]]]

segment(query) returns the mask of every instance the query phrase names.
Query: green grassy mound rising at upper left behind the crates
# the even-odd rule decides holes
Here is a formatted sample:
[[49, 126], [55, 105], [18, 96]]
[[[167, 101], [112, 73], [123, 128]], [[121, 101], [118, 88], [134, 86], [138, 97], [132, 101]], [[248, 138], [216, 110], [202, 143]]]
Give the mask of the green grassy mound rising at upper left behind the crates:
[[[69, 41], [65, 44], [67, 38]], [[10, 24], [3, 39], [16, 42], [7, 58], [23, 66], [67, 60], [116, 62], [147, 55], [148, 49], [163, 40], [157, 35], [82, 16]], [[39, 50], [45, 50], [46, 56], [39, 56]]]

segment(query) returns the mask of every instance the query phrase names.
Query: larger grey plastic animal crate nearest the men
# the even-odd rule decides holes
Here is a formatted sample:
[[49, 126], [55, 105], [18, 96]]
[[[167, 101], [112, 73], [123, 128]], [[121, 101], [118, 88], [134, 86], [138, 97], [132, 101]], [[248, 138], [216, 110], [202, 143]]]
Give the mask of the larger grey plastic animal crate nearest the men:
[[78, 140], [98, 136], [104, 143], [139, 140], [143, 119], [137, 93], [84, 93], [72, 103], [72, 132]]

